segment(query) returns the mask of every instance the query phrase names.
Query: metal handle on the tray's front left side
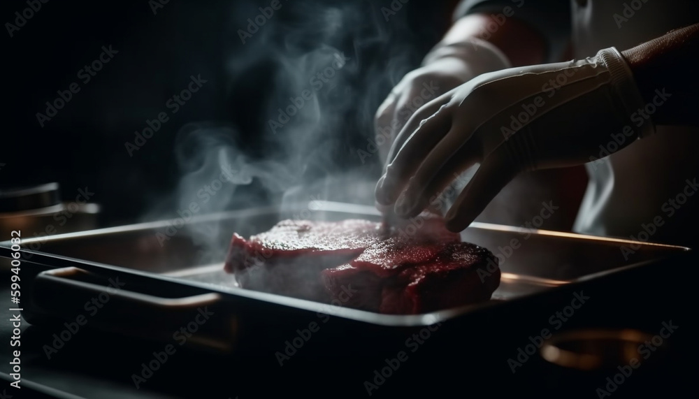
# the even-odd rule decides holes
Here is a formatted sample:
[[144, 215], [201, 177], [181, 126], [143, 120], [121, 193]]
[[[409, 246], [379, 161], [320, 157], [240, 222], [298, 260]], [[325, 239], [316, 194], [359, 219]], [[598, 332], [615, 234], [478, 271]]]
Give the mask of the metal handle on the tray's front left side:
[[[86, 325], [103, 331], [178, 344], [192, 342], [226, 352], [233, 350], [236, 341], [237, 319], [221, 311], [223, 301], [217, 293], [164, 298], [133, 291], [120, 278], [74, 267], [39, 273], [32, 291], [35, 314], [28, 320], [31, 324], [82, 317]], [[44, 320], [37, 320], [37, 310]]]

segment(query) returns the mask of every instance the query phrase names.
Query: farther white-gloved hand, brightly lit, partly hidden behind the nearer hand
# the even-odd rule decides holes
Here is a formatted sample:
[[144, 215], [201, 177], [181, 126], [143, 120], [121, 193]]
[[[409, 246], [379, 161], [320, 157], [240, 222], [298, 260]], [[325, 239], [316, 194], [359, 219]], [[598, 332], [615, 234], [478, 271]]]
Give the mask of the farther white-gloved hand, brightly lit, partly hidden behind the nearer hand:
[[435, 46], [422, 66], [405, 75], [376, 112], [374, 127], [381, 160], [386, 159], [405, 122], [422, 105], [481, 73], [509, 67], [500, 50], [477, 38]]

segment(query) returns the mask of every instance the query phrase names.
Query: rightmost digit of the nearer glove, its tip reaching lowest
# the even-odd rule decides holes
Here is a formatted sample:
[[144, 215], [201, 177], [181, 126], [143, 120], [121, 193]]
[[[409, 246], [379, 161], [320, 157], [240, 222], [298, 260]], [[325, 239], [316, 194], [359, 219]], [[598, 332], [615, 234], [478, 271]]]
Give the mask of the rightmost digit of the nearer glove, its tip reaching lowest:
[[447, 212], [447, 228], [461, 231], [468, 227], [495, 198], [519, 169], [514, 166], [506, 145], [500, 145], [482, 162], [473, 179], [461, 191]]

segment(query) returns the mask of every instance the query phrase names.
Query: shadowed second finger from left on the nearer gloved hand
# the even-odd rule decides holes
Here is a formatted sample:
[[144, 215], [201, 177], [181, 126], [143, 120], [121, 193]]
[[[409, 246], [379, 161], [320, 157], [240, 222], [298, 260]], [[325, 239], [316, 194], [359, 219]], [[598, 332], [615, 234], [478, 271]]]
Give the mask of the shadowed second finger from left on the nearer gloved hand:
[[428, 205], [440, 210], [447, 198], [444, 190], [459, 177], [459, 173], [475, 165], [481, 159], [481, 147], [473, 143], [465, 143], [461, 147], [449, 143], [448, 137], [455, 128], [447, 134], [430, 152], [425, 161], [419, 166], [415, 175], [410, 179], [408, 187], [396, 200], [396, 214], [401, 217], [418, 215]]

